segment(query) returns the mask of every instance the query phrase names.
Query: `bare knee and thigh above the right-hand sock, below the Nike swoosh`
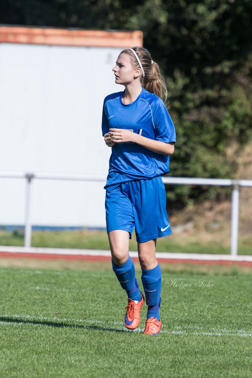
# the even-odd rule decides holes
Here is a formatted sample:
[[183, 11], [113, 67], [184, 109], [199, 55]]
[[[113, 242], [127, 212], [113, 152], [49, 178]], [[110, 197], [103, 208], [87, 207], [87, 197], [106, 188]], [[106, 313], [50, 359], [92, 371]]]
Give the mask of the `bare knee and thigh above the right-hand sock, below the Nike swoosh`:
[[158, 265], [156, 241], [157, 239], [152, 239], [148, 242], [138, 243], [138, 258], [142, 269], [150, 270]]

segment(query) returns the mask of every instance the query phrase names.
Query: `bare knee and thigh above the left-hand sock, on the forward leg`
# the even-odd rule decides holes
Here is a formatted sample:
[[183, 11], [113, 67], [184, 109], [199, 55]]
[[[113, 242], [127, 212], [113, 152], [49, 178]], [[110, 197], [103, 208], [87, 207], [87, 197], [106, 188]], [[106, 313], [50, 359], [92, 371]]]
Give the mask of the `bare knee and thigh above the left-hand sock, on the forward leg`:
[[128, 235], [128, 231], [123, 230], [108, 232], [112, 260], [117, 265], [122, 265], [128, 260], [130, 245]]

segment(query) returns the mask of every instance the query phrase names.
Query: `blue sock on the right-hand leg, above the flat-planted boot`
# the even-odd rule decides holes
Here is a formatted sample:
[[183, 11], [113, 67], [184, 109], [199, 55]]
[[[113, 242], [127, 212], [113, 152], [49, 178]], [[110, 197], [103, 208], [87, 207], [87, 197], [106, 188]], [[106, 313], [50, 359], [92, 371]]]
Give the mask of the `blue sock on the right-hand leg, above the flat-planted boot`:
[[144, 287], [146, 304], [148, 306], [147, 319], [152, 316], [160, 320], [159, 307], [161, 302], [161, 268], [158, 265], [150, 270], [142, 269], [142, 284]]

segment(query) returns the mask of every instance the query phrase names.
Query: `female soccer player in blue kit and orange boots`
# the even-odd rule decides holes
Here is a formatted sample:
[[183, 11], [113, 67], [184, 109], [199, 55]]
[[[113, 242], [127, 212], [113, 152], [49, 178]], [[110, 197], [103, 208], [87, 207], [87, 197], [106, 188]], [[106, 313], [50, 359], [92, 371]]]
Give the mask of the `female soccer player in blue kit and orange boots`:
[[112, 147], [104, 187], [112, 267], [128, 296], [125, 326], [135, 329], [144, 304], [128, 253], [135, 226], [148, 306], [144, 333], [157, 335], [162, 274], [155, 256], [156, 240], [172, 233], [161, 176], [169, 172], [176, 134], [162, 101], [162, 93], [167, 98], [164, 79], [148, 50], [139, 46], [123, 50], [113, 72], [116, 84], [125, 90], [105, 98], [102, 114], [102, 135]]

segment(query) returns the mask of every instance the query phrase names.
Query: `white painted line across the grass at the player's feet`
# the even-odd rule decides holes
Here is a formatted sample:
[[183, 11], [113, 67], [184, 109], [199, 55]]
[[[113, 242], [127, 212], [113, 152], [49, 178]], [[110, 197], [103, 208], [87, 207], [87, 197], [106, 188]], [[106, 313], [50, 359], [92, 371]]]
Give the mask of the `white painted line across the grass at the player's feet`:
[[[79, 322], [79, 323], [88, 323], [88, 324], [107, 324], [107, 325], [115, 325], [117, 330], [124, 331], [124, 332], [144, 332], [144, 328], [136, 328], [135, 330], [128, 330], [124, 326], [124, 322], [110, 322], [110, 321], [102, 321], [102, 320], [84, 320], [84, 319], [66, 319], [66, 318], [57, 318], [56, 316], [53, 318], [47, 318], [46, 316], [32, 316], [32, 315], [17, 315], [17, 314], [0, 314], [0, 318], [16, 318], [16, 319], [30, 319], [31, 322], [22, 322], [20, 320], [19, 323], [17, 322], [9, 322], [9, 321], [0, 321], [0, 324], [16, 324], [16, 325], [23, 325], [23, 324], [33, 324], [33, 325], [45, 325], [45, 323], [32, 323], [32, 320], [43, 320], [48, 322], [54, 322], [54, 321], [61, 321], [61, 322]], [[88, 325], [87, 324], [87, 325]], [[62, 324], [64, 326], [64, 324]], [[74, 326], [74, 324], [71, 324], [71, 326]], [[66, 325], [67, 327], [67, 325]], [[245, 331], [245, 330], [227, 330], [226, 328], [223, 329], [216, 329], [216, 328], [204, 328], [204, 327], [198, 327], [194, 325], [187, 325], [184, 327], [175, 326], [173, 327], [173, 330], [164, 330], [164, 328], [172, 328], [168, 325], [162, 324], [162, 330], [161, 333], [170, 333], [170, 334], [186, 334], [186, 335], [201, 335], [201, 336], [239, 336], [239, 337], [251, 337], [252, 331]]]

